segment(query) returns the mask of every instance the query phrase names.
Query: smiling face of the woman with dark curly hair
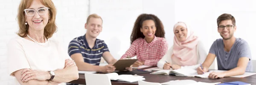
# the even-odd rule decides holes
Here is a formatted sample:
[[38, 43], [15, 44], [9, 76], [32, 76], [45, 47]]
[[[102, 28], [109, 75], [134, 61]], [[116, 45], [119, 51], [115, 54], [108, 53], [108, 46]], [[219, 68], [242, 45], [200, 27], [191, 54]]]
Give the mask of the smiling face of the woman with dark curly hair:
[[140, 28], [140, 31], [143, 33], [146, 39], [154, 39], [156, 30], [157, 28], [153, 20], [143, 21], [142, 28]]

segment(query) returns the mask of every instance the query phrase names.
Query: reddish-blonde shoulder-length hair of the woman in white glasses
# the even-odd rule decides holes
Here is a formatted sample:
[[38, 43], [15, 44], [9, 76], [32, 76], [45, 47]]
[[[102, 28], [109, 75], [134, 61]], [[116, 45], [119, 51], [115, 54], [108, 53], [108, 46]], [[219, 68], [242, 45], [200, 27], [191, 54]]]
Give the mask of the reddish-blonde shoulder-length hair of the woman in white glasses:
[[[33, 0], [21, 0], [20, 1], [20, 6], [18, 8], [18, 14], [17, 14], [17, 20], [18, 20], [18, 24], [19, 24], [19, 31], [17, 32], [17, 34], [20, 37], [26, 37], [26, 34], [28, 34], [28, 30], [29, 30], [29, 25], [25, 25], [25, 13], [24, 13], [24, 9], [29, 8], [29, 6], [32, 4]], [[50, 37], [52, 37], [52, 35], [57, 31], [57, 26], [55, 23], [55, 19], [56, 19], [56, 8], [52, 2], [52, 0], [40, 0], [41, 3], [48, 7], [49, 10], [49, 14], [50, 14], [50, 21], [47, 23], [47, 25], [44, 28], [44, 36], [48, 39]]]

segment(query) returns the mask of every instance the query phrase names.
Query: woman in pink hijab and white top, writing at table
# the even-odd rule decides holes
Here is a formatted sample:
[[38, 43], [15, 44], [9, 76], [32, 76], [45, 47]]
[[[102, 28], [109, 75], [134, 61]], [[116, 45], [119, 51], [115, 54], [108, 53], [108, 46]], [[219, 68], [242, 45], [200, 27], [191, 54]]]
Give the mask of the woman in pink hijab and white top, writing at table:
[[158, 68], [179, 69], [204, 62], [207, 57], [204, 45], [185, 23], [176, 23], [173, 33], [174, 44], [157, 63]]

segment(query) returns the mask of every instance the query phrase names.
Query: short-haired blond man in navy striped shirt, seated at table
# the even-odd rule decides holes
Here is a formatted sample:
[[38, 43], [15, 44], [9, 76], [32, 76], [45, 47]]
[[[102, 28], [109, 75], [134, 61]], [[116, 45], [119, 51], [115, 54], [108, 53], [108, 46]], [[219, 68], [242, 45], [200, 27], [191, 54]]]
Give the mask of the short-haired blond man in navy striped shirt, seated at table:
[[[116, 69], [113, 64], [117, 60], [110, 54], [107, 44], [104, 40], [97, 39], [102, 31], [102, 22], [99, 15], [91, 14], [84, 25], [86, 34], [74, 38], [68, 46], [68, 54], [76, 62], [79, 71], [111, 73]], [[101, 57], [108, 65], [99, 66]], [[127, 70], [131, 71], [131, 68]]]

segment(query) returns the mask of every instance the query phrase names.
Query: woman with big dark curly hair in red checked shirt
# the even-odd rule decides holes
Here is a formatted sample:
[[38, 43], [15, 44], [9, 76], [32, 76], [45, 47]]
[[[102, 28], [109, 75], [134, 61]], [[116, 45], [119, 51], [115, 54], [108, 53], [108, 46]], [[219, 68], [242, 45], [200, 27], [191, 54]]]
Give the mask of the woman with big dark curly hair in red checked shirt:
[[131, 33], [131, 46], [121, 57], [137, 56], [133, 67], [140, 65], [157, 66], [157, 62], [166, 54], [168, 44], [161, 20], [153, 14], [140, 14]]

